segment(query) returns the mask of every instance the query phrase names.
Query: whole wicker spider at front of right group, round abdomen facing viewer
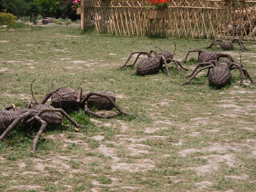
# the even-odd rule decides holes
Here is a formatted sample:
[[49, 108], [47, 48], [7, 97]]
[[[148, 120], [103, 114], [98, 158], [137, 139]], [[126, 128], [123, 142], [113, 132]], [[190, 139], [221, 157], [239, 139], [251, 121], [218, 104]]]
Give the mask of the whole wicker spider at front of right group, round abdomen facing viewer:
[[253, 80], [250, 77], [247, 70], [244, 69], [242, 65], [237, 64], [236, 62], [231, 62], [229, 60], [220, 60], [217, 63], [214, 61], [211, 63], [211, 65], [207, 65], [198, 70], [199, 67], [200, 67], [200, 65], [198, 65], [195, 68], [194, 72], [189, 76], [190, 78], [186, 82], [182, 83], [182, 85], [189, 83], [194, 77], [196, 77], [196, 75], [198, 73], [200, 73], [201, 71], [203, 71], [205, 69], [208, 69], [208, 73], [206, 76], [209, 76], [209, 82], [216, 87], [225, 86], [227, 83], [230, 82], [230, 80], [231, 80], [231, 72], [230, 71], [233, 69], [239, 69], [241, 85], [244, 84], [243, 73], [245, 74], [245, 76], [247, 76], [250, 79], [251, 83], [253, 83]]

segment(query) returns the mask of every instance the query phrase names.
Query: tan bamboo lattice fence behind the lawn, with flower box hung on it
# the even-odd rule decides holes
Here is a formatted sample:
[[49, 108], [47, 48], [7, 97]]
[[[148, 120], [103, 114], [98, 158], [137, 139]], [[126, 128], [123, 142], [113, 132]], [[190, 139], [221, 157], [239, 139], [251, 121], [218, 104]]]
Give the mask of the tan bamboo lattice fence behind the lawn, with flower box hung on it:
[[149, 16], [146, 0], [90, 2], [94, 5], [92, 23], [98, 33], [136, 37], [256, 40], [256, 1], [170, 0], [168, 15], [155, 19]]

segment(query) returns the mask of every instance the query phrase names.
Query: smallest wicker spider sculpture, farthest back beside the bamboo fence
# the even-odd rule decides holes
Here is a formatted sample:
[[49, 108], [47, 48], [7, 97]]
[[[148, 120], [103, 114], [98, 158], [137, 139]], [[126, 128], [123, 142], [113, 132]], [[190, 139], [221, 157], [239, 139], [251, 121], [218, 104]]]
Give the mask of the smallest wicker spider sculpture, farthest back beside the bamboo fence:
[[[219, 41], [219, 43], [218, 43], [218, 41]], [[242, 43], [241, 39], [238, 39], [238, 38], [233, 39], [232, 41], [215, 39], [207, 48], [211, 48], [212, 46], [215, 46], [215, 48], [216, 48], [216, 45], [220, 45], [221, 49], [229, 51], [229, 50], [232, 50], [234, 47], [233, 42], [238, 42], [241, 51], [247, 50], [245, 48], [244, 44]]]

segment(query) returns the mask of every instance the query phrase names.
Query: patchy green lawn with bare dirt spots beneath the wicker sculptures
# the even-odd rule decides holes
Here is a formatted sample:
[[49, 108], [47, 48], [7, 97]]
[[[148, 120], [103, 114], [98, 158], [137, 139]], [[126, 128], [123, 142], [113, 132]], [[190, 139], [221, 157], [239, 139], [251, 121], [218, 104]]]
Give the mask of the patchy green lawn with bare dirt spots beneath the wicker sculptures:
[[[154, 75], [136, 75], [136, 66], [116, 70], [134, 51], [173, 52], [182, 61], [204, 40], [124, 38], [79, 27], [45, 26], [0, 31], [0, 109], [24, 108], [50, 90], [67, 87], [111, 91], [123, 110], [137, 115], [100, 119], [82, 110], [68, 111], [81, 125], [76, 132], [64, 119], [49, 127], [31, 154], [29, 134], [17, 126], [0, 141], [0, 191], [255, 191], [255, 83], [231, 83], [216, 89], [199, 73], [181, 86], [197, 65], [189, 55], [177, 73], [169, 64]], [[255, 44], [238, 44], [232, 55], [256, 79]], [[135, 57], [132, 58], [134, 60]], [[132, 61], [131, 61], [132, 63]], [[50, 102], [50, 101], [48, 101]], [[114, 109], [113, 109], [114, 110]], [[109, 111], [102, 111], [108, 113]], [[0, 117], [1, 120], [1, 117]], [[0, 131], [3, 133], [3, 130]]]

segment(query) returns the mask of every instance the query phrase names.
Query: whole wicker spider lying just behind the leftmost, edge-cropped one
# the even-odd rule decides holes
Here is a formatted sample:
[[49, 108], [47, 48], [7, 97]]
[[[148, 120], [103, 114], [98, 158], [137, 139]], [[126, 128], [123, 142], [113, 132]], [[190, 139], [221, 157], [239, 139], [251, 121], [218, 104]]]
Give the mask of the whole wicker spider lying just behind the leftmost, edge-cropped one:
[[[71, 88], [60, 88], [52, 90], [46, 94], [46, 96], [39, 102], [39, 104], [44, 104], [51, 97], [51, 105], [54, 108], [61, 109], [71, 109], [74, 106], [84, 107], [84, 111], [91, 115], [94, 115], [99, 118], [112, 118], [114, 116], [125, 114], [132, 115], [131, 113], [123, 111], [115, 102], [116, 97], [112, 92], [106, 91], [93, 91], [93, 92], [82, 92], [82, 89], [79, 87], [76, 91]], [[90, 105], [94, 105], [99, 109], [108, 109], [115, 107], [120, 114], [112, 115], [101, 115], [95, 112], [92, 112], [89, 109]]]

